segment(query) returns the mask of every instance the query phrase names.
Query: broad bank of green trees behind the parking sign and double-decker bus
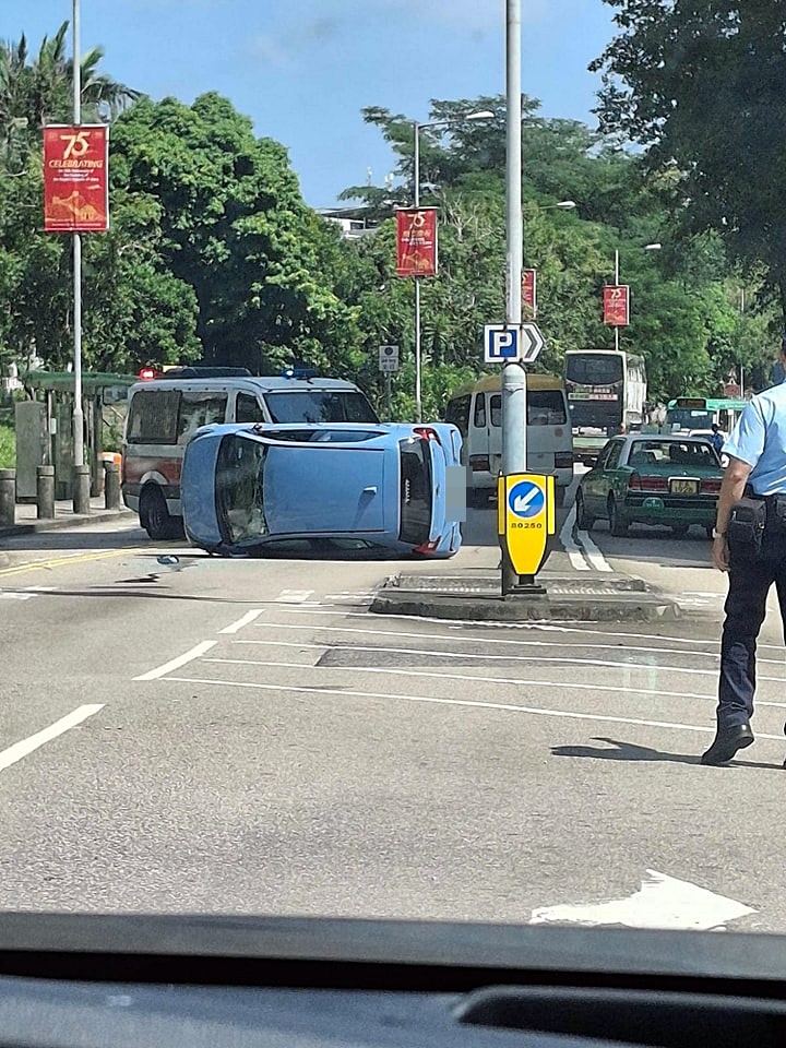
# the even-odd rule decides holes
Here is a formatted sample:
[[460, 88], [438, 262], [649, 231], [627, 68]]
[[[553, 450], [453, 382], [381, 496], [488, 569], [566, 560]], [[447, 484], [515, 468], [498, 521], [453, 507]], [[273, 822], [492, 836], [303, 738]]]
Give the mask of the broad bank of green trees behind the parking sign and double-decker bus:
[[[757, 295], [754, 309], [740, 318], [729, 297], [740, 282], [752, 293], [761, 273], [754, 277], [730, 263], [720, 236], [683, 229], [672, 210], [680, 174], [653, 169], [646, 154], [626, 152], [618, 136], [541, 118], [538, 108], [524, 99], [524, 262], [538, 272], [537, 319], [546, 337], [536, 367], [561, 371], [567, 349], [614, 345], [602, 298], [619, 250], [633, 302], [622, 345], [646, 358], [653, 396], [719, 392], [740, 365], [749, 378], [766, 381], [766, 341], [757, 347], [755, 338], [771, 330], [772, 308]], [[493, 117], [466, 119], [478, 110]], [[413, 403], [412, 282], [394, 276], [386, 216], [412, 203], [413, 124], [378, 107], [365, 109], [364, 118], [379, 127], [398, 163], [392, 183], [343, 194], [382, 219], [359, 249], [364, 265], [373, 265], [364, 269], [366, 289], [352, 301], [370, 345], [397, 342], [404, 350], [396, 380], [403, 409]], [[504, 99], [433, 102], [429, 121], [440, 124], [421, 131], [422, 202], [440, 214], [440, 274], [421, 285], [424, 403], [433, 413], [445, 388], [478, 370], [483, 324], [504, 311]], [[576, 210], [557, 209], [564, 200]], [[645, 252], [655, 240], [663, 250]]]

